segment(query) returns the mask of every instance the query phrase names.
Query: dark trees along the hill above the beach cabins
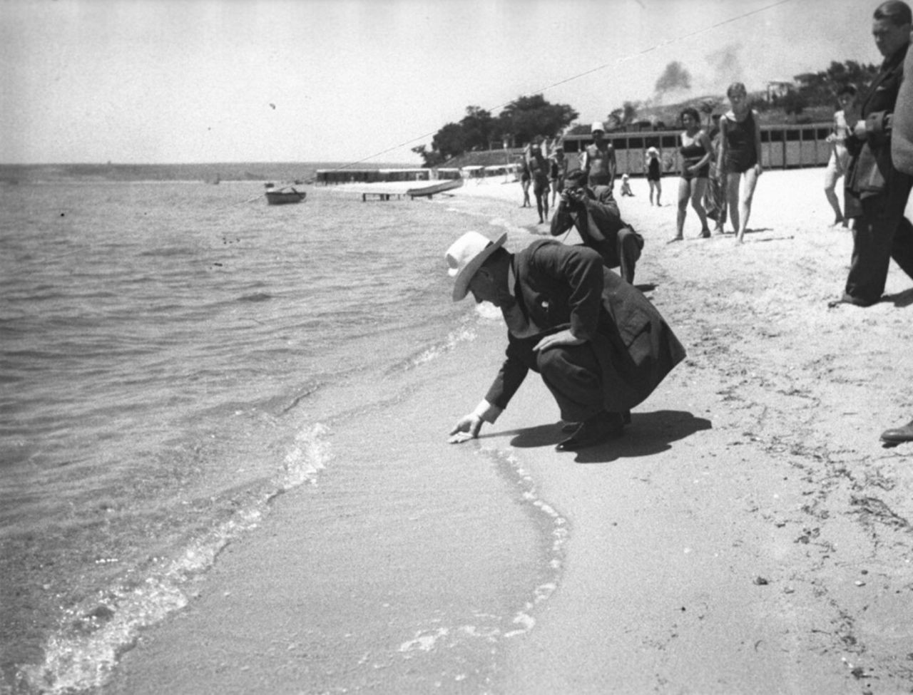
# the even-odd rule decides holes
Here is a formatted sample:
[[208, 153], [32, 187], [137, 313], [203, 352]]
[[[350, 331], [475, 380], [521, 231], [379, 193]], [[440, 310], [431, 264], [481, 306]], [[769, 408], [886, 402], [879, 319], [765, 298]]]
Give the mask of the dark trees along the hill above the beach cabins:
[[[794, 84], [784, 93], [750, 95], [753, 107], [759, 111], [779, 109], [784, 120], [799, 119], [805, 109], [833, 106], [837, 91], [846, 84], [864, 89], [877, 74], [875, 65], [857, 63], [855, 60], [832, 61], [824, 70], [803, 73], [793, 77]], [[630, 130], [633, 127], [649, 127], [663, 130], [665, 119], [677, 123], [677, 114], [685, 106], [693, 106], [709, 118], [719, 112], [726, 103], [725, 97], [710, 96], [691, 99], [681, 104], [662, 109], [662, 117], [656, 115], [657, 108], [649, 102], [625, 101], [621, 107], [609, 111], [604, 122], [606, 130]], [[651, 119], [644, 119], [645, 110], [653, 112]], [[447, 123], [438, 130], [431, 140], [431, 149], [425, 145], [412, 151], [425, 162], [425, 166], [438, 166], [464, 152], [473, 150], [498, 150], [500, 148], [524, 147], [537, 136], [557, 138], [565, 135], [588, 135], [590, 124], [574, 125], [579, 113], [567, 104], [551, 104], [541, 94], [519, 97], [501, 109], [497, 118], [486, 109], [468, 106], [466, 116], [457, 123]]]

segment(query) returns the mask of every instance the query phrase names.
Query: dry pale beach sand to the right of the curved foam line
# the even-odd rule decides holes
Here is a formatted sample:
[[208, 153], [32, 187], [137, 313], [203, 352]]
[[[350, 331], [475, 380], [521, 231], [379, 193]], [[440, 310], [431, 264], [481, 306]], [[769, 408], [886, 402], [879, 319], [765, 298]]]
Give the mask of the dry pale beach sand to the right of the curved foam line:
[[[523, 451], [573, 532], [505, 692], [908, 689], [913, 474], [878, 434], [913, 410], [913, 291], [892, 265], [893, 301], [827, 307], [852, 236], [822, 173], [766, 171], [741, 246], [696, 238], [692, 210], [666, 244], [674, 204], [619, 201], [688, 357], [623, 440]], [[497, 427], [536, 420], [517, 410]]]

